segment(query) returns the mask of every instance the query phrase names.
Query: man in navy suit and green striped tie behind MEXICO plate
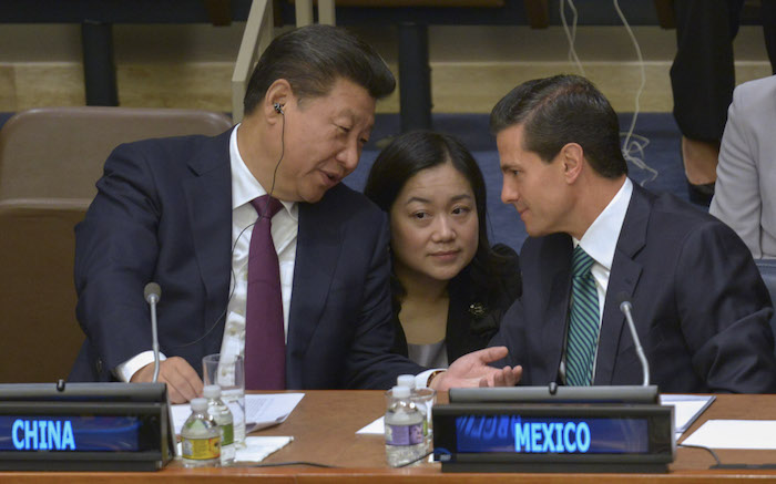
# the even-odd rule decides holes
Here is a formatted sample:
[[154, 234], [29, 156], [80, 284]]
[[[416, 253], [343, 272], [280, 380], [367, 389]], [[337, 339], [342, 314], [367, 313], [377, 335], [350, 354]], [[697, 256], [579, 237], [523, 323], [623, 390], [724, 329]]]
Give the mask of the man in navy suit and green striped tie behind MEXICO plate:
[[522, 384], [639, 384], [619, 309], [664, 392], [776, 390], [769, 297], [742, 240], [714, 217], [627, 178], [617, 117], [585, 79], [515, 87], [493, 109], [503, 173], [529, 239], [523, 295], [491, 344]]

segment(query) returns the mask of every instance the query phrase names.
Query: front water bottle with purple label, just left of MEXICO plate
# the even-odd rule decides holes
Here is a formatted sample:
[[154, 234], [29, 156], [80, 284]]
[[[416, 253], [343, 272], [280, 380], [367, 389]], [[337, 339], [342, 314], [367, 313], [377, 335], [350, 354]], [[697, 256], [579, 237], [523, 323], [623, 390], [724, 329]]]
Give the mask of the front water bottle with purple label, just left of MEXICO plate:
[[388, 465], [398, 467], [426, 454], [423, 414], [410, 400], [410, 389], [394, 387], [387, 393], [386, 457]]

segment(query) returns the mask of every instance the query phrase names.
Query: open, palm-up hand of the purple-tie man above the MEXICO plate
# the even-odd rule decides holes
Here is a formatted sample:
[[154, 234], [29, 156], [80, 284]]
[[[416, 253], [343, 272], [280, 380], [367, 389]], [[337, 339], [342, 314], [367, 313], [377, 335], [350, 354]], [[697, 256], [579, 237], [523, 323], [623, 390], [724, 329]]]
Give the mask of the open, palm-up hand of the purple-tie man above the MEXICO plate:
[[435, 378], [430, 387], [437, 391], [462, 387], [513, 387], [520, 381], [522, 367], [488, 367], [508, 354], [507, 347], [472, 351], [453, 361], [450, 368]]

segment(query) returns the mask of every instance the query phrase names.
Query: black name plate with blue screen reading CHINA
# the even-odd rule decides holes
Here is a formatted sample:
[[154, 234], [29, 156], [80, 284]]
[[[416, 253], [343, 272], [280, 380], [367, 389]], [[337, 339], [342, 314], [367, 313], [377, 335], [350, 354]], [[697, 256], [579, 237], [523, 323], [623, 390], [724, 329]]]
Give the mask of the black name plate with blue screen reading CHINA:
[[173, 457], [166, 388], [0, 384], [0, 470], [154, 471]]

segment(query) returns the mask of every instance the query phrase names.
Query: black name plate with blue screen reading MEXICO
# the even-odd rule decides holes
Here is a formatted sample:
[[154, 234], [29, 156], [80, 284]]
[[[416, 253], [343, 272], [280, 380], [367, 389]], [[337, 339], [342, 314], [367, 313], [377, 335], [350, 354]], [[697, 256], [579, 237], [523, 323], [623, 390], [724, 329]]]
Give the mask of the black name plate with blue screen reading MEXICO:
[[467, 401], [432, 418], [443, 472], [667, 472], [675, 457], [673, 408], [656, 403]]

